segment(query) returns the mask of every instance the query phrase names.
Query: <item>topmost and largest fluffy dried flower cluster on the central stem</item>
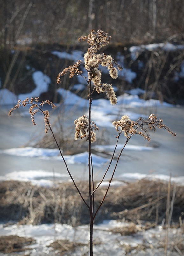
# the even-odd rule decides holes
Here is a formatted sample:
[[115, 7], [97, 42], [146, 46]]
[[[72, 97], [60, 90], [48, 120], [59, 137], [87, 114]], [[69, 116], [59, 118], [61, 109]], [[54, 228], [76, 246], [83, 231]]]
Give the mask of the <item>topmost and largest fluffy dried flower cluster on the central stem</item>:
[[[94, 90], [97, 93], [103, 92], [107, 94], [108, 99], [112, 105], [117, 103], [117, 98], [114, 92], [114, 88], [111, 84], [101, 83], [101, 71], [99, 70], [99, 65], [107, 67], [109, 74], [113, 79], [118, 77], [118, 70], [122, 70], [122, 67], [112, 58], [110, 55], [97, 54], [97, 51], [109, 44], [111, 36], [102, 30], [92, 30], [88, 36], [80, 37], [79, 41], [87, 41], [90, 44], [87, 52], [84, 55], [84, 67], [88, 71], [88, 84], [93, 83]], [[57, 77], [57, 83], [61, 83], [61, 76], [70, 72], [69, 77], [72, 78], [75, 74], [81, 75], [82, 71], [78, 69], [79, 65], [82, 63], [81, 60], [77, 61], [73, 66], [65, 68]], [[115, 67], [117, 66], [117, 68]]]

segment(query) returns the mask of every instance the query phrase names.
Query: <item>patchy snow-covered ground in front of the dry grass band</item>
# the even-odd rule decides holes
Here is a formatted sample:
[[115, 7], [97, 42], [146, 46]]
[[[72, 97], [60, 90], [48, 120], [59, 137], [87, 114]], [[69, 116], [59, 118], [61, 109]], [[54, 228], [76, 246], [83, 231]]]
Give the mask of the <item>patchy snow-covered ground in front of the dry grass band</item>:
[[[104, 221], [100, 225], [94, 226], [94, 255], [99, 256], [122, 256], [129, 249], [128, 255], [136, 256], [163, 256], [183, 255], [178, 247], [184, 240], [182, 228], [163, 229], [162, 226], [141, 231], [140, 225], [135, 225], [134, 229], [138, 232], [132, 235], [121, 235], [119, 230], [123, 230], [132, 224], [118, 222], [115, 220]], [[75, 251], [68, 251], [62, 255], [82, 256], [89, 255], [89, 226], [82, 225], [71, 227], [61, 224], [43, 224], [43, 225], [0, 225], [1, 235], [18, 235], [24, 237], [32, 237], [36, 243], [29, 245], [29, 250], [24, 254], [21, 252], [18, 255], [43, 256], [56, 255], [53, 249], [49, 246], [55, 240], [69, 240], [75, 243], [81, 243], [82, 246], [76, 248]], [[114, 232], [113, 232], [114, 230]], [[116, 232], [115, 232], [116, 231]], [[121, 232], [121, 231], [120, 231]], [[167, 243], [167, 244], [166, 244]], [[179, 245], [178, 245], [179, 244]], [[166, 247], [165, 247], [166, 246]], [[173, 248], [176, 249], [173, 249]], [[165, 252], [167, 248], [167, 254]], [[31, 250], [30, 250], [31, 249]], [[4, 255], [0, 253], [0, 256]], [[7, 255], [7, 254], [6, 254]], [[17, 255], [17, 254], [11, 254]]]

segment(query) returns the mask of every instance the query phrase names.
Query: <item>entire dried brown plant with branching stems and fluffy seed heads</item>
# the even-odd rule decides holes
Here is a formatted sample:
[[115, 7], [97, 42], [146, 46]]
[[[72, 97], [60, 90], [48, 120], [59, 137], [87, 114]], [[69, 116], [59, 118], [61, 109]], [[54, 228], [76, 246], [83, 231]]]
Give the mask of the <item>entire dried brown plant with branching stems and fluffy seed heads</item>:
[[[106, 84], [101, 82], [101, 71], [99, 69], [99, 66], [106, 67], [109, 70], [109, 74], [113, 79], [116, 79], [118, 77], [118, 69], [122, 70], [122, 67], [110, 56], [110, 55], [105, 55], [104, 53], [100, 54], [98, 53], [99, 49], [101, 49], [103, 46], [106, 46], [111, 37], [108, 36], [107, 33], [103, 32], [102, 30], [98, 30], [95, 32], [94, 30], [91, 31], [91, 33], [88, 36], [80, 37], [79, 41], [87, 41], [90, 45], [88, 48], [87, 52], [84, 55], [84, 61], [78, 60], [73, 66], [69, 66], [68, 68], [65, 68], [62, 72], [59, 73], [57, 77], [57, 83], [61, 83], [61, 77], [67, 74], [67, 72], [70, 72], [69, 77], [72, 78], [74, 75], [80, 75], [82, 76], [88, 85], [89, 89], [89, 94], [88, 94], [88, 99], [89, 99], [89, 109], [88, 109], [88, 118], [87, 116], [81, 116], [78, 119], [74, 121], [74, 124], [76, 125], [75, 128], [75, 139], [79, 138], [85, 138], [88, 141], [88, 200], [86, 200], [83, 195], [82, 191], [80, 188], [77, 186], [75, 183], [69, 169], [67, 166], [67, 163], [64, 159], [64, 156], [60, 150], [60, 147], [57, 143], [57, 140], [54, 136], [54, 133], [52, 131], [51, 125], [49, 123], [49, 111], [48, 110], [43, 110], [43, 105], [44, 104], [49, 104], [53, 108], [55, 105], [46, 100], [41, 102], [40, 104], [38, 103], [38, 98], [33, 98], [31, 99], [26, 99], [24, 101], [18, 101], [17, 105], [12, 108], [9, 112], [9, 115], [11, 115], [12, 111], [15, 110], [16, 108], [19, 108], [20, 106], [25, 107], [26, 105], [30, 104], [30, 114], [32, 118], [32, 123], [34, 125], [34, 116], [37, 112], [41, 112], [44, 115], [44, 122], [45, 122], [45, 132], [47, 133], [48, 130], [52, 132], [53, 138], [56, 142], [56, 145], [60, 151], [60, 154], [63, 158], [63, 161], [65, 163], [65, 166], [67, 168], [67, 171], [75, 185], [75, 188], [77, 189], [78, 193], [80, 194], [83, 202], [86, 204], [88, 210], [89, 210], [89, 216], [90, 216], [90, 256], [93, 255], [93, 223], [94, 219], [96, 217], [97, 212], [101, 208], [107, 193], [110, 188], [111, 181], [113, 179], [117, 164], [119, 162], [120, 156], [122, 154], [122, 151], [124, 150], [125, 146], [127, 145], [128, 141], [131, 139], [131, 137], [135, 134], [141, 135], [144, 139], [150, 140], [150, 136], [148, 133], [148, 130], [153, 130], [154, 132], [156, 131], [156, 128], [163, 128], [167, 130], [169, 133], [173, 134], [176, 136], [174, 132], [170, 130], [165, 124], [163, 124], [163, 121], [161, 119], [157, 119], [154, 114], [150, 115], [148, 117], [148, 120], [144, 120], [142, 117], [138, 119], [138, 121], [134, 122], [132, 121], [129, 116], [122, 116], [121, 120], [119, 121], [114, 121], [113, 125], [115, 126], [116, 130], [119, 132], [117, 138], [117, 142], [114, 148], [113, 155], [110, 159], [110, 163], [104, 173], [104, 176], [100, 183], [96, 186], [95, 188], [95, 183], [94, 183], [94, 175], [93, 175], [93, 160], [92, 160], [92, 155], [91, 155], [91, 143], [96, 141], [96, 133], [95, 131], [98, 130], [98, 127], [96, 126], [95, 122], [91, 120], [91, 104], [92, 104], [92, 94], [94, 91], [97, 93], [106, 93], [108, 99], [110, 100], [110, 103], [112, 105], [117, 104], [117, 98], [114, 92], [114, 88], [112, 87], [111, 84]], [[88, 77], [83, 76], [82, 71], [79, 69], [79, 66], [81, 64], [84, 64], [84, 68], [88, 72]], [[101, 203], [96, 205], [95, 203], [95, 192], [103, 182], [104, 178], [106, 177], [107, 172], [109, 171], [112, 161], [114, 159], [114, 155], [117, 149], [117, 144], [119, 141], [119, 138], [121, 134], [124, 132], [124, 135], [126, 137], [126, 142], [122, 149], [119, 152], [119, 155], [116, 160], [115, 167], [113, 167], [112, 170], [112, 175], [109, 180], [109, 185], [106, 189], [106, 192], [104, 196], [102, 197]]]

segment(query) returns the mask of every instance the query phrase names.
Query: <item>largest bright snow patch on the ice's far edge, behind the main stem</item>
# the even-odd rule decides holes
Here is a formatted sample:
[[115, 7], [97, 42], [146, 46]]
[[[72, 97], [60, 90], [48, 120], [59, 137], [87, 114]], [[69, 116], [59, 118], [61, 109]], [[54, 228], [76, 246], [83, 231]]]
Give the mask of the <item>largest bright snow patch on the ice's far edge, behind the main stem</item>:
[[[58, 93], [64, 99], [66, 105], [76, 105], [81, 108], [88, 107], [88, 100], [83, 99], [74, 93], [63, 88], [58, 89]], [[117, 105], [112, 106], [109, 100], [98, 99], [92, 101], [91, 116], [97, 126], [112, 127], [112, 122], [121, 118], [122, 115], [128, 115], [132, 120], [137, 120], [140, 114], [126, 110], [126, 108], [144, 108], [144, 107], [171, 107], [172, 105], [166, 102], [160, 103], [159, 100], [143, 100], [138, 95], [129, 95], [127, 93], [117, 97]], [[121, 113], [121, 115], [119, 114]], [[88, 112], [85, 113], [88, 116]], [[145, 115], [141, 115], [147, 118]]]

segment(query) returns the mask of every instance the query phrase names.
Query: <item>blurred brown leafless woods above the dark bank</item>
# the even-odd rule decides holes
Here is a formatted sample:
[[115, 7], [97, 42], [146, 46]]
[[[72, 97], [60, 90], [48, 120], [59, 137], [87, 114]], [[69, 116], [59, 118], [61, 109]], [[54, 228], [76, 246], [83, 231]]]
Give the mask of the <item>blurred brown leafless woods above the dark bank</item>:
[[1, 0], [1, 44], [71, 46], [91, 29], [112, 43], [183, 42], [183, 0]]

